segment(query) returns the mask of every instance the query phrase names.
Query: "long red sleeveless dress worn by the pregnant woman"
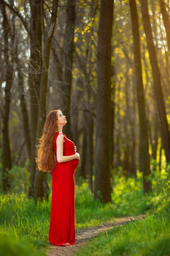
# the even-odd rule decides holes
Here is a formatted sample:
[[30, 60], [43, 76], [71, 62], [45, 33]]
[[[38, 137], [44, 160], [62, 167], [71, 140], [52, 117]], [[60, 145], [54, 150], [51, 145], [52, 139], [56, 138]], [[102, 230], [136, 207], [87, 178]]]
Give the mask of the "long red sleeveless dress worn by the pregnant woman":
[[[56, 140], [58, 135], [59, 132], [56, 132], [54, 136], [55, 155], [57, 154]], [[75, 154], [74, 143], [65, 134], [63, 135], [65, 140], [63, 156]], [[78, 164], [78, 159], [63, 163], [57, 161], [52, 170], [51, 216], [48, 240], [53, 245], [66, 246], [66, 243], [72, 245], [76, 242], [74, 173]]]

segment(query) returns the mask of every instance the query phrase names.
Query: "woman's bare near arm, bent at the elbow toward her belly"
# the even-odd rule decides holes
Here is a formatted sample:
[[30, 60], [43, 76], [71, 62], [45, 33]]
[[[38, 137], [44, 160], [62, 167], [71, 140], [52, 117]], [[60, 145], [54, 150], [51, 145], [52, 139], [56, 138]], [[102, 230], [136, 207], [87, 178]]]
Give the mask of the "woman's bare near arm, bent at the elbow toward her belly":
[[57, 144], [57, 161], [59, 163], [68, 162], [73, 159], [77, 158], [77, 154], [71, 155], [71, 156], [63, 156], [63, 143], [64, 143], [64, 136], [62, 134], [59, 134], [56, 140]]

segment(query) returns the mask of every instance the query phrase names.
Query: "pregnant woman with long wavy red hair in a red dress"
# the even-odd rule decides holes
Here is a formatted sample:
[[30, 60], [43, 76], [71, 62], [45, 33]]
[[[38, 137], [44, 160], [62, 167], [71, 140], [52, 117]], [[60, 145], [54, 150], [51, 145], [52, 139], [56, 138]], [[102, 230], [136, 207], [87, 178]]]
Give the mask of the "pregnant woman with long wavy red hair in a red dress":
[[[74, 143], [62, 133], [62, 127], [66, 123], [60, 110], [48, 114], [37, 154], [39, 169], [49, 172], [50, 163], [50, 167], [54, 167], [53, 170], [51, 168], [52, 198], [48, 240], [56, 246], [73, 245], [76, 242], [74, 173], [80, 157]], [[51, 143], [45, 144], [47, 137]], [[47, 151], [50, 152], [49, 155]]]

